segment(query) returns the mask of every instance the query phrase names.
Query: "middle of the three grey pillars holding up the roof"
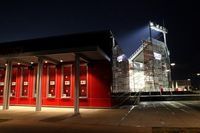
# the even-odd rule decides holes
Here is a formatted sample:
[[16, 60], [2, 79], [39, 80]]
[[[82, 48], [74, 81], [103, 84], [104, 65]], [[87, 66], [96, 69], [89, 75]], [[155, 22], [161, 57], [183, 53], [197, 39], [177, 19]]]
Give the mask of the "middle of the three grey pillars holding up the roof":
[[42, 67], [43, 59], [38, 57], [37, 66], [37, 84], [36, 84], [36, 111], [41, 111], [42, 108]]

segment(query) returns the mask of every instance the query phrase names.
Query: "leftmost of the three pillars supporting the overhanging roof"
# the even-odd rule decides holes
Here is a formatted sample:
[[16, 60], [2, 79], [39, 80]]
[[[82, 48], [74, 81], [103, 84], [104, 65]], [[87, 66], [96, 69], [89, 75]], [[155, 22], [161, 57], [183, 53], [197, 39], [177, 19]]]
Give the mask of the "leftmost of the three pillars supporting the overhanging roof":
[[12, 82], [12, 62], [8, 60], [6, 62], [6, 73], [4, 79], [4, 91], [3, 91], [3, 110], [9, 109], [10, 103], [10, 90], [11, 90], [11, 82]]

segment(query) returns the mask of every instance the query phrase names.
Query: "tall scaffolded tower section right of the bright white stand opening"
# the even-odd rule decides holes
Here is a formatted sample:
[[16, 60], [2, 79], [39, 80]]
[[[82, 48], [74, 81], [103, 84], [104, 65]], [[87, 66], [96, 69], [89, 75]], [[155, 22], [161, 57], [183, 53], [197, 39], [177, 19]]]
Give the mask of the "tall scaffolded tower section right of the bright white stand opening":
[[144, 41], [145, 88], [149, 91], [163, 91], [169, 88], [170, 64], [164, 43]]

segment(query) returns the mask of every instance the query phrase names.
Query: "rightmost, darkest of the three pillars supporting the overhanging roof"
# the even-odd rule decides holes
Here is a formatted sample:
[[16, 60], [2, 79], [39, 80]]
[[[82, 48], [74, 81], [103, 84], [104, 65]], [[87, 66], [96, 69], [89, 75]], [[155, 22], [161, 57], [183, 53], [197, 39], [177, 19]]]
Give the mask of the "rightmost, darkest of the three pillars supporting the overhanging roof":
[[75, 54], [74, 114], [79, 114], [80, 57]]

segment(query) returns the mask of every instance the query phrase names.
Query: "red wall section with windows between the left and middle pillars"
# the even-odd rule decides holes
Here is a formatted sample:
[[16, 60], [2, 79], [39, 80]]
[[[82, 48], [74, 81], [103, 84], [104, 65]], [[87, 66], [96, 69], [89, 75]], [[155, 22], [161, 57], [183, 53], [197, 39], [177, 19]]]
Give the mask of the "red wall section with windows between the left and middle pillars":
[[21, 66], [12, 68], [11, 105], [35, 105], [35, 71], [35, 68]]

